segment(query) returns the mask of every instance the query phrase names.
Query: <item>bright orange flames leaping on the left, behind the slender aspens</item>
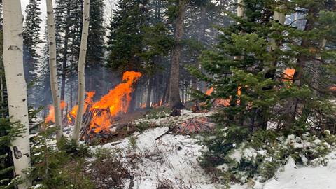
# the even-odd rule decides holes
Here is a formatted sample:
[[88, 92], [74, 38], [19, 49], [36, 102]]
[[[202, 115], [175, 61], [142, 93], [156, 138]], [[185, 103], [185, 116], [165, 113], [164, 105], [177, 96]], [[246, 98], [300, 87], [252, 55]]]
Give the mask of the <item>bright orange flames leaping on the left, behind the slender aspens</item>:
[[[99, 132], [107, 130], [114, 122], [113, 118], [119, 113], [126, 113], [131, 102], [131, 93], [134, 91], [133, 85], [141, 77], [141, 73], [136, 71], [126, 71], [123, 74], [122, 83], [118, 84], [108, 94], [105, 94], [99, 101], [93, 102], [95, 92], [87, 92], [84, 104], [84, 113], [92, 113], [90, 120], [90, 130]], [[64, 102], [62, 104], [65, 104]], [[64, 109], [66, 104], [61, 108]], [[66, 118], [69, 123], [73, 123], [76, 118], [78, 105], [74, 106]], [[49, 115], [45, 122], [55, 122], [54, 107], [49, 106]]]

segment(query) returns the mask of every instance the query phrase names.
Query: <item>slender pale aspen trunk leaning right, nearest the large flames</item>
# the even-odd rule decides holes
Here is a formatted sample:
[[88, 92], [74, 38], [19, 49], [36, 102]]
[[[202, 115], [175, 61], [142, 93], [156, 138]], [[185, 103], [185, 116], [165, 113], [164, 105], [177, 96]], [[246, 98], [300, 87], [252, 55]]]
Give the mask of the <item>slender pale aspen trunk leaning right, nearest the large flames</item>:
[[78, 111], [75, 120], [75, 128], [73, 129], [73, 134], [71, 138], [78, 142], [80, 126], [82, 123], [83, 109], [84, 109], [84, 98], [85, 98], [85, 57], [87, 51], [87, 36], [89, 32], [89, 22], [90, 22], [90, 0], [84, 0], [83, 7], [83, 30], [82, 38], [80, 41], [80, 52], [78, 61]]

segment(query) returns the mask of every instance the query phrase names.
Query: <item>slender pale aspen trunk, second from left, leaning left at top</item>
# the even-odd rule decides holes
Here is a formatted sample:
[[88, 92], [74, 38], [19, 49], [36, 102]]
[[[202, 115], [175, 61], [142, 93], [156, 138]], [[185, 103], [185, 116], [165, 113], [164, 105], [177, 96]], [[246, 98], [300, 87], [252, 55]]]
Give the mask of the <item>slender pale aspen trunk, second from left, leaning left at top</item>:
[[57, 141], [63, 136], [62, 113], [60, 106], [59, 87], [57, 80], [56, 64], [56, 36], [55, 36], [55, 18], [52, 0], [45, 0], [47, 4], [47, 22], [48, 22], [48, 41], [49, 41], [49, 66], [50, 66], [50, 87], [52, 102], [55, 108], [55, 126], [59, 127], [57, 131]]

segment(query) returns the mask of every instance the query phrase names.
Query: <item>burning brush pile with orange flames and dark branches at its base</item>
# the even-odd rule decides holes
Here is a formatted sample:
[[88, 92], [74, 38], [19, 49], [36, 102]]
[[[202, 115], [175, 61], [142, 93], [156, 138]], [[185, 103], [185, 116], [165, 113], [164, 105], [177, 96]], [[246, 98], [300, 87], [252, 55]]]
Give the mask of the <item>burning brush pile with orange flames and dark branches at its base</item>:
[[[80, 139], [88, 142], [96, 137], [106, 139], [111, 135], [110, 130], [116, 125], [116, 120], [120, 113], [127, 113], [131, 102], [131, 94], [134, 91], [133, 85], [141, 77], [141, 73], [136, 71], [126, 71], [123, 74], [122, 83], [118, 84], [108, 94], [99, 101], [94, 102], [95, 92], [87, 92], [84, 104], [83, 122], [80, 132]], [[66, 103], [61, 103], [62, 112], [66, 108]], [[78, 106], [74, 106], [70, 111], [66, 110], [63, 116], [63, 125], [74, 125]], [[54, 107], [49, 106], [46, 123], [54, 123]]]

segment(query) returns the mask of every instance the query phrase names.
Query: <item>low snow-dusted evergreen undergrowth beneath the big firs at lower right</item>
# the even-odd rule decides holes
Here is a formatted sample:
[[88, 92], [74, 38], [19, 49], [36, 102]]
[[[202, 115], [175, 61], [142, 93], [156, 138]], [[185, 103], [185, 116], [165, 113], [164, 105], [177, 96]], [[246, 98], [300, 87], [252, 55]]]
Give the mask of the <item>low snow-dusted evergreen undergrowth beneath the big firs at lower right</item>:
[[286, 137], [274, 130], [251, 134], [241, 127], [218, 128], [201, 143], [208, 147], [200, 157], [200, 165], [216, 174], [217, 181], [247, 183], [267, 181], [281, 171], [289, 157], [301, 165], [326, 165], [336, 143], [335, 135], [325, 130], [321, 136], [306, 132]]

